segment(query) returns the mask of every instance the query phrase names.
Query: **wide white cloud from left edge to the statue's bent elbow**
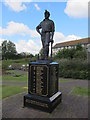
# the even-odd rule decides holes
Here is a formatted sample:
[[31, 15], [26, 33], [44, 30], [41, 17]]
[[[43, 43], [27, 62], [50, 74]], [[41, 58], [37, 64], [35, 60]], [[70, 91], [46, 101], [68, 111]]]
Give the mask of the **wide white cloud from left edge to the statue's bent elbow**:
[[23, 23], [9, 22], [6, 28], [0, 27], [0, 34], [12, 36], [12, 35], [30, 35], [30, 37], [39, 37], [36, 30], [31, 30], [27, 25]]

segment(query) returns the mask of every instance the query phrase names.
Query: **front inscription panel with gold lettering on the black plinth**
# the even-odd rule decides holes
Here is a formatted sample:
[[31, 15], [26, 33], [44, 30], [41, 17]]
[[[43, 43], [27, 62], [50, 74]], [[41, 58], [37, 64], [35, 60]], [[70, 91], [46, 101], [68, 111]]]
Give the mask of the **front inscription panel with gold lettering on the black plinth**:
[[46, 65], [30, 66], [30, 93], [48, 95], [48, 67]]

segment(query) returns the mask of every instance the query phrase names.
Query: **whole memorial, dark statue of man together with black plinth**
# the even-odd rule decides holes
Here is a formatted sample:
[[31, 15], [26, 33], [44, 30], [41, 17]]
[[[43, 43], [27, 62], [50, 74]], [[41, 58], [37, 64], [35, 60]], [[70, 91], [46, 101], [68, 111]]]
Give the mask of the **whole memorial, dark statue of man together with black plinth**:
[[59, 64], [48, 59], [50, 43], [52, 57], [54, 22], [49, 19], [50, 13], [47, 10], [44, 14], [45, 19], [36, 27], [41, 35], [43, 60], [29, 62], [28, 94], [23, 97], [23, 105], [51, 113], [61, 102], [62, 93], [58, 89]]

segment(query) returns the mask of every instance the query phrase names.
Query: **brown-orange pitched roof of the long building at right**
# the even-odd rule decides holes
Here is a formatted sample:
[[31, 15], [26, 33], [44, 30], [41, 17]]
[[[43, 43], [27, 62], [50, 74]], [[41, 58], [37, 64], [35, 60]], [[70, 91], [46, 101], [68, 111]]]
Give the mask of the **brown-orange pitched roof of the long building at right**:
[[57, 43], [53, 48], [60, 48], [60, 47], [66, 47], [66, 46], [75, 46], [77, 44], [88, 44], [90, 43], [90, 37], [89, 38], [83, 38], [79, 40], [72, 40], [68, 42], [62, 42], [62, 43]]

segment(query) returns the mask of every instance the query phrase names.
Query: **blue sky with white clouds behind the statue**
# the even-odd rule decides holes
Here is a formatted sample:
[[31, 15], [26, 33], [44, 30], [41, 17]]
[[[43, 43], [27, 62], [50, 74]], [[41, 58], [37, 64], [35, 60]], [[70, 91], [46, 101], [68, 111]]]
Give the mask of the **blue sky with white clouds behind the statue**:
[[49, 1], [0, 2], [0, 43], [10, 40], [15, 43], [17, 52], [37, 54], [42, 43], [36, 26], [44, 19], [46, 9], [55, 23], [53, 45], [88, 37], [88, 0]]

